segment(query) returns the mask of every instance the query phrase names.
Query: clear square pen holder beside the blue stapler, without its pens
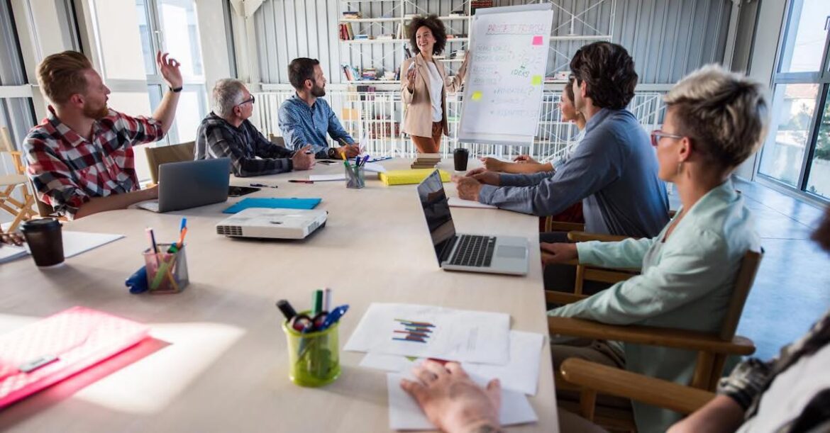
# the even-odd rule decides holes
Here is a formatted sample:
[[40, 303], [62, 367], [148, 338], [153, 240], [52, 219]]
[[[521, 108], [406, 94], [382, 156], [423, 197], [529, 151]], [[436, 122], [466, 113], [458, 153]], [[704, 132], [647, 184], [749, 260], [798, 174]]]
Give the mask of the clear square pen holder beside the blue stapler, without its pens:
[[159, 252], [148, 248], [144, 251], [144, 268], [147, 270], [147, 287], [151, 294], [181, 292], [188, 286], [188, 258], [181, 250], [168, 252], [172, 244], [159, 244]]

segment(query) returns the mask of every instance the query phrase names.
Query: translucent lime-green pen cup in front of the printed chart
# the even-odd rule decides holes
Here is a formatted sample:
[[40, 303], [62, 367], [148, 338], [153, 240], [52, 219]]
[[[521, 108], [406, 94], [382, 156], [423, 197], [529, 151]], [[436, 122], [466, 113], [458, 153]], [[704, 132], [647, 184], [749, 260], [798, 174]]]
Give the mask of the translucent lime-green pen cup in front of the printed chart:
[[[300, 314], [310, 314], [303, 311]], [[288, 340], [288, 377], [300, 387], [322, 387], [340, 376], [339, 324], [313, 333], [300, 333], [288, 321], [282, 332]]]

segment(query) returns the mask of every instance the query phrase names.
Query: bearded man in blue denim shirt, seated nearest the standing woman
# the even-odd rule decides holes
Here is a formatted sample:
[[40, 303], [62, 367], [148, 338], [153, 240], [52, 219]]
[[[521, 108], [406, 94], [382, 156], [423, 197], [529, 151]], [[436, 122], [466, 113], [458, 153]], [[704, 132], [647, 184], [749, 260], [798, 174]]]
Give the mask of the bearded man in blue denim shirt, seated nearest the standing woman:
[[[298, 150], [311, 146], [316, 158], [353, 158], [359, 145], [337, 119], [325, 96], [325, 76], [320, 61], [300, 57], [288, 66], [288, 80], [296, 94], [280, 106], [280, 129], [286, 146]], [[328, 133], [339, 146], [329, 147]]]

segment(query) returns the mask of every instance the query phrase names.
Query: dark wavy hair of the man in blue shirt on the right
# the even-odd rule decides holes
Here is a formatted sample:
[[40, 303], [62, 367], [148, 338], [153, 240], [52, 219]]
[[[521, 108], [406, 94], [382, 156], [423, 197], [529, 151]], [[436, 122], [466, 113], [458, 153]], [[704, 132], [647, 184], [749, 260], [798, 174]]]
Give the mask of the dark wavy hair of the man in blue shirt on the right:
[[624, 109], [634, 97], [637, 72], [634, 60], [623, 46], [593, 42], [579, 48], [571, 59], [576, 82], [588, 83], [588, 98], [600, 108]]

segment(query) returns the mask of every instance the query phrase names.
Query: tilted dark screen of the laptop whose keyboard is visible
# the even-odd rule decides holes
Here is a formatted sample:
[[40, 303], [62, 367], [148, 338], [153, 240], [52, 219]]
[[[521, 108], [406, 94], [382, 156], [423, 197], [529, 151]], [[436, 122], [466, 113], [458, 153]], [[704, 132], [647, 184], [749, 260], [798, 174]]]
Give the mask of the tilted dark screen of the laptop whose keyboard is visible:
[[417, 195], [421, 199], [423, 216], [427, 218], [432, 246], [435, 247], [435, 255], [440, 265], [444, 248], [448, 244], [452, 245], [452, 238], [456, 236], [456, 227], [452, 225], [450, 205], [437, 170], [417, 186]]

